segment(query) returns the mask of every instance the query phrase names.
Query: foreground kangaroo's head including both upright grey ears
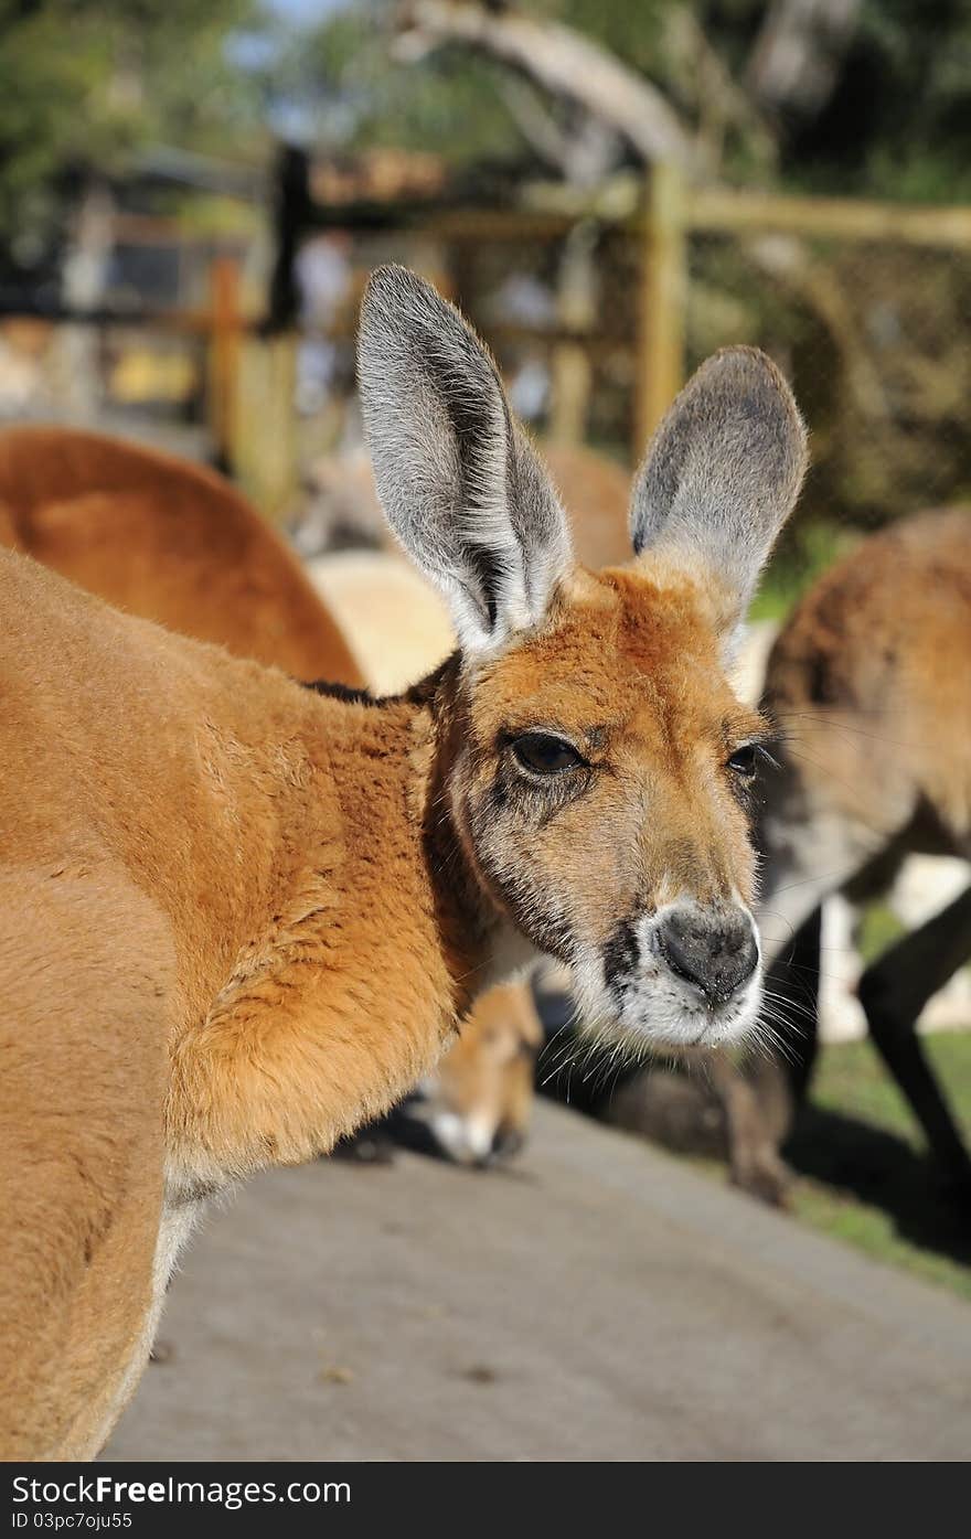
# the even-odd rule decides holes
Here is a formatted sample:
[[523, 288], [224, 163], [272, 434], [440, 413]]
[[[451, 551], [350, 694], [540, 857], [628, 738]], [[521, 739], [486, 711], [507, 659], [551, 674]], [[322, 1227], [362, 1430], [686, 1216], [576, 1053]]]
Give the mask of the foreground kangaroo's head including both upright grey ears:
[[725, 677], [802, 482], [792, 396], [748, 348], [660, 425], [632, 560], [574, 563], [549, 477], [459, 312], [382, 268], [359, 379], [382, 505], [459, 636], [445, 802], [489, 900], [631, 1042], [756, 1025], [748, 802], [763, 720]]

